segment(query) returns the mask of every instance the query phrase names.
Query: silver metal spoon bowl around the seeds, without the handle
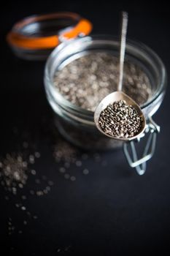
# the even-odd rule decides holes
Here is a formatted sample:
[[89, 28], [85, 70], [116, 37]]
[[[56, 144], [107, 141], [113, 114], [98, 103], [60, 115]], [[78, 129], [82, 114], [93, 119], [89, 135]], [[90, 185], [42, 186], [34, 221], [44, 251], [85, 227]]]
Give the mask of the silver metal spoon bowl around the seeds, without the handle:
[[[99, 117], [101, 115], [101, 111], [103, 111], [105, 108], [107, 108], [107, 106], [109, 104], [113, 104], [114, 102], [117, 102], [117, 101], [120, 101], [120, 100], [124, 100], [127, 105], [133, 106], [136, 109], [137, 114], [140, 116], [140, 118], [142, 120], [139, 132], [137, 132], [137, 134], [135, 136], [133, 136], [133, 137], [117, 138], [117, 137], [114, 137], [112, 135], [108, 135], [100, 127]], [[112, 138], [112, 139], [124, 140], [124, 141], [134, 140], [139, 135], [141, 135], [142, 132], [144, 132], [144, 129], [146, 127], [146, 120], [145, 120], [144, 113], [142, 112], [141, 108], [139, 107], [139, 105], [136, 104], [136, 102], [134, 102], [133, 99], [131, 99], [131, 97], [128, 97], [128, 95], [124, 94], [123, 91], [112, 92], [112, 94], [107, 95], [107, 97], [105, 97], [104, 99], [101, 100], [101, 102], [99, 103], [99, 105], [96, 108], [96, 111], [94, 113], [94, 122], [95, 122], [96, 127], [98, 128], [98, 130], [101, 133], [103, 133], [104, 135], [106, 135], [106, 136], [108, 136], [109, 138]]]

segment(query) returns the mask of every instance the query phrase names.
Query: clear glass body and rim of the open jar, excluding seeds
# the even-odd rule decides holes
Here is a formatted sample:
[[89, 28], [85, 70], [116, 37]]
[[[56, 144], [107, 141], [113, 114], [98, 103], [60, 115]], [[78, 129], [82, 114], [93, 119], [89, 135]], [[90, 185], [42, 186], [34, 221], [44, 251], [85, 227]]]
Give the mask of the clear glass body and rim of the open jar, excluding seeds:
[[[108, 52], [118, 56], [119, 48], [120, 42], [116, 37], [82, 37], [61, 43], [47, 59], [45, 90], [47, 99], [56, 114], [55, 124], [64, 138], [82, 148], [106, 150], [119, 148], [123, 143], [98, 132], [93, 121], [93, 112], [73, 105], [60, 94], [53, 83], [55, 72], [59, 72], [74, 59], [93, 51]], [[157, 54], [141, 42], [127, 40], [125, 59], [141, 67], [150, 79], [152, 96], [141, 106], [150, 127], [150, 118], [160, 107], [165, 94], [166, 69]], [[154, 127], [153, 122], [151, 127]], [[158, 127], [155, 125], [154, 129], [158, 130]]]

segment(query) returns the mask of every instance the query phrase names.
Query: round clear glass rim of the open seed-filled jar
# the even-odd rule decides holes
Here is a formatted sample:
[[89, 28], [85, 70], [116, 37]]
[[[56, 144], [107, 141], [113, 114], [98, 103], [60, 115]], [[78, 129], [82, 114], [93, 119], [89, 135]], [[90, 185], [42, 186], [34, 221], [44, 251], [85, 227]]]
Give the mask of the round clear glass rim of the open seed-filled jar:
[[[64, 50], [64, 48], [66, 48], [68, 45], [70, 44], [74, 44], [75, 42], [93, 42], [94, 40], [105, 40], [107, 42], [111, 41], [115, 41], [117, 42], [117, 44], [119, 43], [119, 38], [118, 37], [114, 37], [112, 35], [104, 35], [104, 34], [96, 34], [96, 35], [91, 35], [91, 36], [87, 36], [87, 37], [79, 37], [76, 39], [70, 39], [69, 42], [63, 42], [61, 43], [61, 45], [58, 45], [57, 48], [55, 48], [53, 50], [53, 52], [50, 54], [50, 56], [47, 59], [47, 62], [45, 64], [45, 79], [47, 79], [48, 81], [48, 86], [50, 86], [51, 91], [53, 91], [53, 98], [54, 99], [58, 99], [58, 102], [61, 102], [62, 106], [65, 106], [66, 108], [69, 108], [71, 110], [74, 110], [77, 113], [81, 113], [83, 116], [93, 116], [93, 111], [91, 110], [86, 110], [85, 108], [81, 108], [78, 105], [74, 105], [72, 102], [69, 102], [69, 100], [67, 100], [59, 91], [58, 89], [54, 86], [53, 83], [53, 78], [50, 76], [50, 64], [51, 62], [53, 63], [53, 61], [55, 60], [55, 56], [58, 55], [58, 53], [60, 53], [62, 50]], [[167, 75], [166, 75], [166, 68], [163, 64], [163, 61], [161, 60], [161, 58], [158, 56], [157, 53], [155, 53], [154, 50], [152, 50], [150, 47], [148, 47], [147, 45], [145, 45], [143, 42], [134, 40], [134, 39], [127, 39], [126, 42], [126, 47], [133, 47], [136, 50], [142, 50], [145, 55], [147, 55], [147, 57], [149, 59], [154, 59], [155, 63], [158, 65], [158, 68], [160, 70], [160, 83], [158, 86], [158, 90], [156, 91], [155, 94], [153, 94], [152, 97], [150, 97], [150, 99], [144, 103], [141, 108], [147, 108], [147, 106], [151, 105], [152, 102], [155, 101], [155, 99], [157, 99], [159, 97], [159, 95], [163, 92], [163, 90], [165, 90], [166, 88], [166, 80], [167, 80]], [[76, 52], [75, 52], [76, 54]], [[97, 107], [97, 106], [96, 106]]]

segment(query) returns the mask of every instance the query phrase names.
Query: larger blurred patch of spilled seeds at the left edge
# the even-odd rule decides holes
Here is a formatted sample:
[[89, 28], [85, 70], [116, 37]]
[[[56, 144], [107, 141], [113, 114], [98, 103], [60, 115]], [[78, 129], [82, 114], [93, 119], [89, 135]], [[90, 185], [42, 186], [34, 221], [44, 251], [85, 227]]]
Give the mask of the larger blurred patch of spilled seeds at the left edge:
[[[33, 169], [36, 159], [39, 159], [41, 154], [33, 151], [32, 143], [23, 141], [21, 145], [17, 144], [19, 152], [7, 153], [5, 157], [0, 158], [0, 184], [4, 187], [4, 199], [10, 206], [15, 206], [17, 211], [23, 211], [23, 218], [19, 221], [16, 221], [15, 215], [10, 212], [7, 222], [9, 236], [15, 233], [22, 234], [25, 226], [37, 219], [36, 214], [29, 211], [28, 201], [33, 196], [47, 195], [54, 184], [47, 176], [39, 176]], [[33, 179], [35, 185], [30, 186], [28, 179]]]

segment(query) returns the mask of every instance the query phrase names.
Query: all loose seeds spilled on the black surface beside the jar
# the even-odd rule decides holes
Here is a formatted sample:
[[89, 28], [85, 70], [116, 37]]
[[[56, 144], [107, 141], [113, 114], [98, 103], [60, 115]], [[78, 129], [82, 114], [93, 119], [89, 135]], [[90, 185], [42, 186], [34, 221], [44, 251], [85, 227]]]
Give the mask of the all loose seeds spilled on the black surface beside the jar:
[[[50, 147], [53, 146], [51, 153], [56, 162], [56, 170], [67, 182], [76, 182], [79, 177], [88, 176], [90, 170], [87, 160], [98, 162], [98, 165], [107, 165], [107, 161], [102, 160], [100, 154], [87, 154], [63, 140], [56, 127], [54, 127], [53, 121], [49, 118], [46, 121], [43, 121], [45, 131], [47, 129], [44, 139], [45, 141], [47, 141], [47, 138], [50, 139]], [[49, 126], [49, 124], [51, 125]], [[9, 236], [14, 236], [17, 233], [23, 234], [26, 227], [38, 219], [36, 213], [30, 210], [29, 202], [35, 200], [35, 198], [38, 200], [39, 197], [46, 196], [55, 185], [55, 182], [50, 181], [47, 176], [41, 175], [41, 170], [37, 170], [37, 162], [42, 157], [40, 152], [37, 151], [36, 144], [31, 141], [31, 135], [28, 135], [28, 132], [25, 135], [24, 132], [24, 136], [21, 136], [22, 134], [16, 131], [17, 129], [15, 129], [17, 139], [18, 135], [24, 137], [21, 143], [16, 144], [19, 151], [8, 152], [4, 157], [0, 157], [0, 184], [4, 188], [4, 200], [12, 208], [15, 208], [15, 211], [7, 212]], [[49, 135], [52, 135], [52, 137], [49, 138]], [[22, 212], [22, 217], [17, 219], [16, 213], [19, 211]]]

